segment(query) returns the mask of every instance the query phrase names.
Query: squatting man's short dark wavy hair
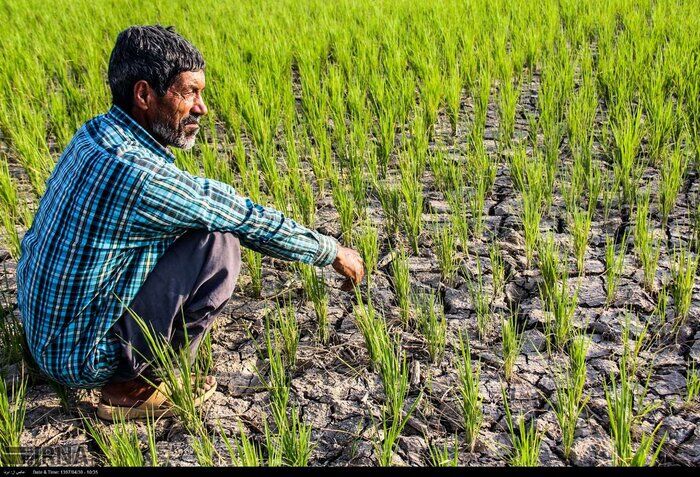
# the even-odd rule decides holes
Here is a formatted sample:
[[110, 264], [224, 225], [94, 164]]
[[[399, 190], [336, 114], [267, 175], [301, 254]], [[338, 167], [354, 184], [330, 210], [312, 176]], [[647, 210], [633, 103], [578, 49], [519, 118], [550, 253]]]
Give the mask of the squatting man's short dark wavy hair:
[[128, 111], [137, 81], [147, 81], [159, 96], [164, 96], [177, 75], [203, 69], [202, 54], [173, 27], [129, 27], [119, 33], [109, 57], [107, 77], [112, 102]]

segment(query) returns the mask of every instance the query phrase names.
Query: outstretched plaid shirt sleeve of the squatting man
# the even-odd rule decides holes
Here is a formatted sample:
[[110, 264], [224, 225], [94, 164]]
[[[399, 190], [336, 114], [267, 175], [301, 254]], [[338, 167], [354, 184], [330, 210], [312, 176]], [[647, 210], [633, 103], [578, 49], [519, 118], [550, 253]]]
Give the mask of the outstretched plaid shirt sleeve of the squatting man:
[[147, 239], [201, 228], [232, 232], [241, 245], [264, 255], [316, 266], [332, 263], [338, 251], [334, 238], [256, 204], [228, 184], [164, 165], [135, 207], [132, 235]]

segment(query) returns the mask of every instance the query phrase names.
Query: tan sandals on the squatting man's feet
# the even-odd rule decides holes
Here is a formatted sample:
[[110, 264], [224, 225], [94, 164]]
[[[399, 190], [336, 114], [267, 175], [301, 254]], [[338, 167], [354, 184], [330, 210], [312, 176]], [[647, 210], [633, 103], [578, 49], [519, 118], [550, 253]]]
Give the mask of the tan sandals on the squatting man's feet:
[[[216, 391], [216, 378], [214, 376], [208, 376], [208, 378], [211, 379], [211, 386], [209, 389], [200, 386], [195, 390], [197, 396], [194, 399], [194, 405], [197, 407], [211, 398]], [[191, 374], [190, 379], [192, 380], [192, 385], [194, 385], [195, 375]], [[100, 400], [100, 403], [97, 405], [97, 416], [106, 421], [115, 421], [115, 419], [145, 419], [146, 417], [170, 417], [174, 414], [174, 406], [168, 400], [167, 393], [167, 384], [163, 381], [148, 399], [131, 407], [116, 406]]]

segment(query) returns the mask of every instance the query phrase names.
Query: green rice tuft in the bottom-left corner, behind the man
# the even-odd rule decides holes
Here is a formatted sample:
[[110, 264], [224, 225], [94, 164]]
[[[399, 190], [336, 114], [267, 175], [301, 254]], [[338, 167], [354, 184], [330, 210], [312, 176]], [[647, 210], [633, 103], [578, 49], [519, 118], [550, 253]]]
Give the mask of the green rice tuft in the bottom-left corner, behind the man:
[[22, 465], [17, 452], [27, 412], [27, 379], [22, 375], [8, 389], [5, 377], [0, 377], [0, 466]]

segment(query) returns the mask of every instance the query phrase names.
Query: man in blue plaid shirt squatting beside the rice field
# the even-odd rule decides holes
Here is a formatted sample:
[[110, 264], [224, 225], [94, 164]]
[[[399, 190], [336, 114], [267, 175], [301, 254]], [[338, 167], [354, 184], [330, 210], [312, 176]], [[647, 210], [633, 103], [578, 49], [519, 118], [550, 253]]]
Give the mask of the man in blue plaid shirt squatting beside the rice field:
[[[152, 357], [129, 309], [173, 346], [186, 332], [194, 355], [233, 293], [239, 244], [332, 264], [345, 289], [364, 275], [357, 252], [335, 239], [175, 166], [168, 147], [192, 147], [207, 114], [204, 66], [172, 28], [121, 32], [109, 60], [113, 106], [66, 147], [22, 240], [17, 288], [29, 351], [60, 383], [102, 387], [105, 418], [168, 404], [144, 379], [154, 377]], [[205, 398], [215, 384], [208, 378]]]

